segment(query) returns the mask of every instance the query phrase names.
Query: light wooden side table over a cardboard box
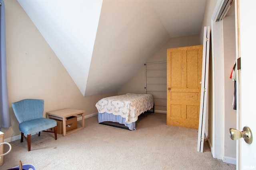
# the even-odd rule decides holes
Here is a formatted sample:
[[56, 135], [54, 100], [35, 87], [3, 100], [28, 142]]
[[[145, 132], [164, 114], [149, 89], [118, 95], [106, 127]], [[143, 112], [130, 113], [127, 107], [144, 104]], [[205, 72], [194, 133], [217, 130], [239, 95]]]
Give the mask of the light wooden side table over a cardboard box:
[[[82, 116], [82, 127], [74, 129], [72, 131], [66, 132], [66, 120], [67, 117], [70, 116]], [[77, 110], [77, 109], [61, 109], [56, 111], [50, 111], [46, 113], [46, 118], [54, 118], [63, 121], [63, 136], [70, 135], [71, 133], [75, 133], [81, 129], [84, 129], [84, 110]]]

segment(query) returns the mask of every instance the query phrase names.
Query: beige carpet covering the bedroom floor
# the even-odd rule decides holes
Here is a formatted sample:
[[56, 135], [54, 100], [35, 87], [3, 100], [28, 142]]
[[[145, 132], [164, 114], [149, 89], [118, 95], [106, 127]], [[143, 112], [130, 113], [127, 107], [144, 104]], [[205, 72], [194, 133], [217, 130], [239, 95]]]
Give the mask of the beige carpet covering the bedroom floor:
[[[81, 122], [78, 122], [81, 124]], [[37, 170], [234, 170], [212, 157], [207, 142], [197, 152], [197, 130], [166, 125], [166, 114], [144, 113], [136, 131], [98, 124], [97, 116], [85, 119], [85, 129], [54, 140], [52, 133], [32, 136], [27, 143], [11, 142], [1, 170], [33, 164]], [[8, 146], [5, 145], [4, 150]]]

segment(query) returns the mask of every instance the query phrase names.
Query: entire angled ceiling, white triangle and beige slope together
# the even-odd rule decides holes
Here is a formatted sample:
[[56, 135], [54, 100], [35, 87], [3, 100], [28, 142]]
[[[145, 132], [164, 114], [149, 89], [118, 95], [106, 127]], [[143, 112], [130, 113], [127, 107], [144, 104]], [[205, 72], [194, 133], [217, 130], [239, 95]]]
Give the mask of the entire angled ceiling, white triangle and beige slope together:
[[118, 92], [172, 37], [200, 33], [206, 0], [18, 0], [84, 96]]

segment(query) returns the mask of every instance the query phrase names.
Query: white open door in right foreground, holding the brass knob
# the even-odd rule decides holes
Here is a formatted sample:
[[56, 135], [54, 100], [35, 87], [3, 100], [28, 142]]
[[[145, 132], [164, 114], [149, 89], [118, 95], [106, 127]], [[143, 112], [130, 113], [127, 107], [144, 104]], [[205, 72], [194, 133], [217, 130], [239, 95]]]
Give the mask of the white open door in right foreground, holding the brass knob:
[[241, 57], [241, 69], [238, 70], [238, 116], [237, 129], [249, 127], [252, 131], [252, 143], [245, 143], [244, 139], [238, 139], [237, 169], [256, 169], [256, 111], [255, 111], [255, 0], [236, 1], [236, 27], [238, 39], [237, 58]]

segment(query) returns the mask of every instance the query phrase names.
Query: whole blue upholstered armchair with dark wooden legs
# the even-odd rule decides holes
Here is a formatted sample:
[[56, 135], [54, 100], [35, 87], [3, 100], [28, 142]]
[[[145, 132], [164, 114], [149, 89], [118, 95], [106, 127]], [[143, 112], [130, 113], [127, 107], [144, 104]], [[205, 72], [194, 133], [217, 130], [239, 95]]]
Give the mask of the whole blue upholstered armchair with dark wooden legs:
[[[43, 117], [44, 100], [24, 99], [19, 102], [12, 103], [12, 108], [18, 122], [20, 123], [20, 142], [23, 142], [23, 138], [28, 142], [28, 151], [30, 151], [31, 134], [33, 133], [39, 132], [38, 136], [40, 136], [41, 131], [51, 132], [54, 133], [55, 140], [57, 140], [57, 122]], [[46, 130], [50, 128], [53, 128], [54, 131]], [[24, 133], [27, 137], [24, 136]]]

